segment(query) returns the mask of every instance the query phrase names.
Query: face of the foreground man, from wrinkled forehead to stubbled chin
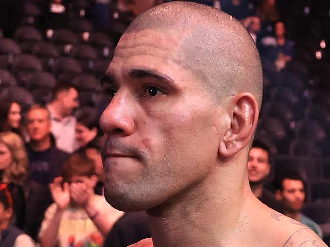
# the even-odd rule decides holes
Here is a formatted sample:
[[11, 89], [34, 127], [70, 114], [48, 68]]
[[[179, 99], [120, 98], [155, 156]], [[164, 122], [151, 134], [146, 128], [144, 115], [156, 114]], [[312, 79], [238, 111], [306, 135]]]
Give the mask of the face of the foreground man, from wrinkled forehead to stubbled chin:
[[100, 119], [105, 197], [118, 209], [156, 207], [217, 161], [223, 109], [174, 61], [176, 41], [153, 30], [125, 34], [107, 70], [105, 88], [116, 94]]

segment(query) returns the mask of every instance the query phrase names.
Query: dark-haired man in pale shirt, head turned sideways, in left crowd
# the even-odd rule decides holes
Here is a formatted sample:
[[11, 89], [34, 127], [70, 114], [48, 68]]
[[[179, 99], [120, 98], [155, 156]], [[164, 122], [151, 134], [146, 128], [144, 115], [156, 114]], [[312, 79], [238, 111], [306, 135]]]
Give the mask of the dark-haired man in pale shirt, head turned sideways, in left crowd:
[[56, 146], [68, 153], [78, 148], [75, 136], [76, 118], [71, 114], [79, 106], [78, 91], [70, 83], [57, 83], [53, 89], [53, 101], [48, 104], [51, 130]]

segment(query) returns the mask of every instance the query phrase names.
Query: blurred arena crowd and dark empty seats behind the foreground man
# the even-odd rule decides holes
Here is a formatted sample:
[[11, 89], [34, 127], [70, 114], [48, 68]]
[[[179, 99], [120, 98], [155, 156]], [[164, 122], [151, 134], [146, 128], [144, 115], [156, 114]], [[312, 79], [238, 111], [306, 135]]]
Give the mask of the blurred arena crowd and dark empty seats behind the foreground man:
[[[0, 1], [1, 246], [127, 246], [150, 236], [144, 212], [103, 197], [98, 118], [109, 97], [98, 81], [129, 23], [162, 2]], [[329, 243], [330, 4], [194, 2], [240, 20], [260, 53], [254, 194]]]

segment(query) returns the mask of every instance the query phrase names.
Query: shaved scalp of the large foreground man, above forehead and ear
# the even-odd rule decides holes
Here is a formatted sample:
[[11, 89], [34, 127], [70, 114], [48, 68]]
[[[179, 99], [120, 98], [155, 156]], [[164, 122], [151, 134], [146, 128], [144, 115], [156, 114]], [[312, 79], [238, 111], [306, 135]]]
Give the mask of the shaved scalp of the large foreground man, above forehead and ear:
[[172, 37], [175, 40], [172, 60], [189, 69], [217, 100], [250, 92], [261, 105], [262, 68], [258, 51], [250, 34], [232, 16], [209, 6], [176, 1], [142, 13], [125, 34], [143, 30], [156, 30]]

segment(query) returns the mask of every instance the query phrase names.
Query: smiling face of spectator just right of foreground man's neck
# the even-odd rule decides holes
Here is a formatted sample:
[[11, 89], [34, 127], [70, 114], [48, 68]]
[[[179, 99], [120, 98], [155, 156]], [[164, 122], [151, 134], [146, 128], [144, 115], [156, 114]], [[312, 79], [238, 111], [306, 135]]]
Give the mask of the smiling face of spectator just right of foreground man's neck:
[[251, 148], [248, 158], [249, 182], [251, 184], [262, 183], [269, 175], [270, 170], [268, 153], [261, 148]]

